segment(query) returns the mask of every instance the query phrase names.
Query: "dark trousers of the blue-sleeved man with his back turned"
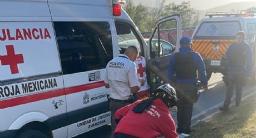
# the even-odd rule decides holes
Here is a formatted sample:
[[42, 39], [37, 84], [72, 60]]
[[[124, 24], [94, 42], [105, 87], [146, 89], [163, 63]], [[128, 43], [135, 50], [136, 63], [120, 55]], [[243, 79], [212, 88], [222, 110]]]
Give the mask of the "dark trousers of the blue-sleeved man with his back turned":
[[196, 84], [177, 83], [175, 85], [176, 93], [178, 96], [178, 132], [190, 133], [190, 125], [193, 111], [193, 104], [197, 97]]

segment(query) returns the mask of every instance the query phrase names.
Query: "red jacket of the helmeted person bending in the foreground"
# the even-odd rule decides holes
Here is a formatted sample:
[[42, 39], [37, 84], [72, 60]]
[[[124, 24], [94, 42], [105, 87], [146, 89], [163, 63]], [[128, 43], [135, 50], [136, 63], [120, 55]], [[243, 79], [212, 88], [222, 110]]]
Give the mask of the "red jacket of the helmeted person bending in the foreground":
[[114, 133], [130, 134], [135, 137], [178, 137], [175, 122], [162, 100], [153, 102], [149, 110], [142, 114], [134, 113], [133, 107], [141, 100], [117, 110], [115, 119], [120, 119]]

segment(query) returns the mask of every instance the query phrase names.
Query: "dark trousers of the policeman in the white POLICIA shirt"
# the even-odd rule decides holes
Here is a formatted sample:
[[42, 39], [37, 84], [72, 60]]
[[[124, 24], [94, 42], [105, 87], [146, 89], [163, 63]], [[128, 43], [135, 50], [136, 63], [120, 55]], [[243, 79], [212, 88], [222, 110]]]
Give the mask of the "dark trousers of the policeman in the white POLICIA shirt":
[[116, 122], [114, 121], [114, 115], [116, 114], [116, 111], [130, 103], [122, 103], [118, 101], [112, 101], [110, 100], [110, 112], [111, 112], [111, 134], [113, 134], [114, 129], [116, 129]]

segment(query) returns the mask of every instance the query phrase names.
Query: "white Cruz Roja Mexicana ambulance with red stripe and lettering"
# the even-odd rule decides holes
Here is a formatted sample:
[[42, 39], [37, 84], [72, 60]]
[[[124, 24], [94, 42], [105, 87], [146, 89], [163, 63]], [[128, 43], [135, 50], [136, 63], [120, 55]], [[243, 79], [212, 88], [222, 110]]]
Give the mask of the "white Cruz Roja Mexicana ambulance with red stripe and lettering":
[[103, 80], [120, 54], [118, 38], [139, 42], [155, 79], [170, 56], [157, 33], [166, 22], [180, 36], [180, 17], [166, 17], [151, 46], [116, 0], [0, 1], [0, 137], [75, 137], [109, 124]]

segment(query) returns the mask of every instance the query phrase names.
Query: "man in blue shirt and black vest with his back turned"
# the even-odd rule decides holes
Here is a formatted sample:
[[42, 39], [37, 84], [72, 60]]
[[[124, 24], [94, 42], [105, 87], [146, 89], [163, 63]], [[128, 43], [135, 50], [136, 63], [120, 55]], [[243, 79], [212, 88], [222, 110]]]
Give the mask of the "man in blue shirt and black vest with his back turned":
[[189, 134], [191, 132], [190, 125], [193, 104], [196, 102], [197, 98], [197, 71], [199, 71], [202, 77], [204, 91], [208, 89], [207, 76], [201, 55], [194, 52], [190, 47], [190, 44], [192, 44], [190, 38], [181, 38], [180, 44], [181, 48], [179, 52], [170, 57], [168, 79], [172, 85], [175, 84], [179, 99], [177, 104], [177, 132]]

